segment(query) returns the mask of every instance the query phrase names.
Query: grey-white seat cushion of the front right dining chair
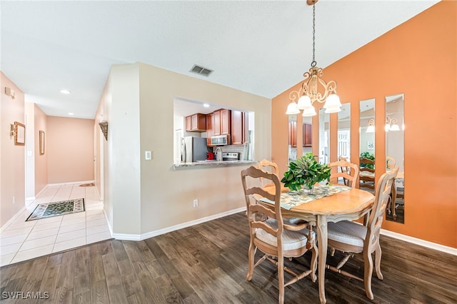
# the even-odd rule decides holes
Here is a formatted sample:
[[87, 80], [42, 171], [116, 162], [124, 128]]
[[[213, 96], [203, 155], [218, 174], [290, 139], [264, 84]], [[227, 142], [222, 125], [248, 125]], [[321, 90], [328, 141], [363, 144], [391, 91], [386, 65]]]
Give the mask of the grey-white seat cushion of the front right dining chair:
[[328, 222], [328, 239], [363, 247], [366, 227], [352, 221]]

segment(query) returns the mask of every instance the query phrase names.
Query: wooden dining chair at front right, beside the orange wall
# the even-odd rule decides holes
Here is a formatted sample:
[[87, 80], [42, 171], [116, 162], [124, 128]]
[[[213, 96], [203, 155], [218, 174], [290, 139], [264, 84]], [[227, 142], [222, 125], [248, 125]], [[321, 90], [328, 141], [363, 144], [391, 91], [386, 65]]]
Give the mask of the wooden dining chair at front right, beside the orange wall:
[[[346, 253], [346, 256], [338, 265], [326, 265], [326, 268], [351, 278], [356, 278], [357, 280], [363, 280], [366, 296], [371, 300], [374, 298], [373, 291], [371, 290], [371, 276], [373, 274], [373, 258], [371, 254], [373, 252], [375, 253], [376, 275], [378, 275], [379, 280], [382, 280], [379, 233], [391, 194], [392, 183], [397, 173], [398, 167], [395, 167], [391, 171], [384, 173], [379, 179], [373, 208], [366, 226], [353, 221], [328, 223], [328, 247], [331, 248], [331, 254], [333, 255], [334, 250], [339, 250]], [[354, 253], [363, 253], [363, 279], [345, 270], [341, 270]]]

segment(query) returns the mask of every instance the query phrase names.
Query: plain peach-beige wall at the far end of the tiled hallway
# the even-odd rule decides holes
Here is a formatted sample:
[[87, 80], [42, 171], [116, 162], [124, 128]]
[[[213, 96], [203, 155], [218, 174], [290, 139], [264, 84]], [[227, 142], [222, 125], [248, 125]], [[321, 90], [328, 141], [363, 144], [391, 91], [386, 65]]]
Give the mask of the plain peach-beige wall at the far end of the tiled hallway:
[[93, 181], [94, 120], [47, 116], [46, 131], [47, 183]]

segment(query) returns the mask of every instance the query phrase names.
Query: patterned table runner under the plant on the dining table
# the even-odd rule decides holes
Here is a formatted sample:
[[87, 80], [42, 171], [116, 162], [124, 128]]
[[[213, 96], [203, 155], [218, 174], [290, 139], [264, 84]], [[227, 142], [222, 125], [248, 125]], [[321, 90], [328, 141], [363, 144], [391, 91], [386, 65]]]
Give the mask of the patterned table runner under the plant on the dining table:
[[[351, 189], [351, 187], [340, 185], [316, 185], [313, 188], [313, 193], [307, 193], [306, 190], [281, 193], [281, 208], [291, 210], [291, 208], [300, 206], [303, 203], [309, 203], [319, 198], [323, 198], [324, 196], [331, 196], [332, 194], [348, 191], [349, 189]], [[267, 198], [261, 198], [259, 201], [274, 205], [274, 202]]]

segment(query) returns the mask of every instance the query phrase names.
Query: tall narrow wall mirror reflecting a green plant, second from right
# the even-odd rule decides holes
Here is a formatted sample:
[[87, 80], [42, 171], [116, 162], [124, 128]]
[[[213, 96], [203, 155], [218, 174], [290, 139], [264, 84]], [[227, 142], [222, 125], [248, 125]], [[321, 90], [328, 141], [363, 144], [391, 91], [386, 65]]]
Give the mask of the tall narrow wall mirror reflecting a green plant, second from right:
[[375, 191], [374, 105], [374, 98], [360, 101], [360, 177], [358, 184], [359, 188], [373, 193]]

